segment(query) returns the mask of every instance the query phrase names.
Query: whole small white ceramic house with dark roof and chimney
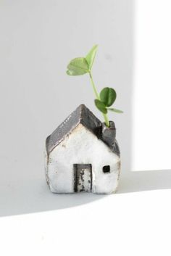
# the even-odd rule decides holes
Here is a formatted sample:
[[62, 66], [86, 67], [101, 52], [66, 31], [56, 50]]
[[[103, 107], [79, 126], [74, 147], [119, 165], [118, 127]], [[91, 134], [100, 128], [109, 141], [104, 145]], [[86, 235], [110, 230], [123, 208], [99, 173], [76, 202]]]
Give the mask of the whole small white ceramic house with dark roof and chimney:
[[46, 181], [54, 193], [111, 194], [120, 176], [116, 129], [81, 104], [46, 139]]

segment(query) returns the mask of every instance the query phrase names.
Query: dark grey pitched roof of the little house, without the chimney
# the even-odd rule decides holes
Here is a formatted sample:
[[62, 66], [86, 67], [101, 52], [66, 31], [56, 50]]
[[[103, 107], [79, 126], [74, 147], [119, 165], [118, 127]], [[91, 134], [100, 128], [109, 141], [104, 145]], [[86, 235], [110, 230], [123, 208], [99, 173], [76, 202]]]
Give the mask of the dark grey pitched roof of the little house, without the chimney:
[[[88, 110], [88, 108], [81, 104], [75, 111], [73, 111], [64, 122], [57, 127], [57, 129], [51, 133], [46, 139], [46, 151], [49, 154], [55, 146], [60, 144], [63, 139], [68, 136], [72, 130], [77, 127], [79, 123], [82, 123], [89, 131], [96, 135], [99, 139], [103, 140], [101, 136], [102, 123], [101, 121], [93, 115], [93, 113]], [[106, 143], [106, 141], [104, 141]], [[109, 145], [108, 145], [109, 146]], [[110, 147], [111, 148], [111, 147]], [[112, 151], [116, 154], [120, 154], [119, 147], [116, 144], [112, 144]]]

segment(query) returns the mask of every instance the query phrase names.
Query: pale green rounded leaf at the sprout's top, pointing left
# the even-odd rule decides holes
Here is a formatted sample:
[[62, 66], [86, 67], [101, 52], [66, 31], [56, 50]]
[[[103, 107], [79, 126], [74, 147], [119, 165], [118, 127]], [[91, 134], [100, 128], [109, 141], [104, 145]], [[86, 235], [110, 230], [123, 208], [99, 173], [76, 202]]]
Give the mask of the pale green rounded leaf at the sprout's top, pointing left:
[[72, 59], [67, 65], [67, 75], [84, 75], [88, 73], [88, 62], [86, 58]]

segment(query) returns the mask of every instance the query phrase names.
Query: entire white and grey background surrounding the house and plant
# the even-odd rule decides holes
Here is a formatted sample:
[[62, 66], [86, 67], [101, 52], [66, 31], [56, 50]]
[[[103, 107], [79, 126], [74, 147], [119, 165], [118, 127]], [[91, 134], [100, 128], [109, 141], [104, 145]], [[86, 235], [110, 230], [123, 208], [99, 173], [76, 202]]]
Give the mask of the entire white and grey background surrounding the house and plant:
[[[1, 255], [170, 255], [170, 8], [169, 0], [0, 2]], [[116, 88], [124, 110], [110, 115], [120, 187], [110, 196], [51, 194], [46, 136], [80, 103], [101, 118], [88, 76], [65, 74], [93, 44], [97, 87]]]

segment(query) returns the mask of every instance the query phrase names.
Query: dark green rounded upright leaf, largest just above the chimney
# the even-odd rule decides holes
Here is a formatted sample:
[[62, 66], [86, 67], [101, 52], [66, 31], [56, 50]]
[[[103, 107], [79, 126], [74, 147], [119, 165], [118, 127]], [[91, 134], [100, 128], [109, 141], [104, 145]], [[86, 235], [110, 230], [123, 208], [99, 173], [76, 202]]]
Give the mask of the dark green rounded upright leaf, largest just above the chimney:
[[105, 87], [101, 90], [100, 99], [107, 107], [112, 106], [115, 99], [117, 98], [117, 93], [113, 88]]

